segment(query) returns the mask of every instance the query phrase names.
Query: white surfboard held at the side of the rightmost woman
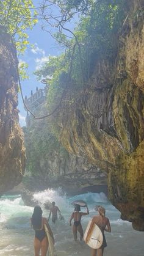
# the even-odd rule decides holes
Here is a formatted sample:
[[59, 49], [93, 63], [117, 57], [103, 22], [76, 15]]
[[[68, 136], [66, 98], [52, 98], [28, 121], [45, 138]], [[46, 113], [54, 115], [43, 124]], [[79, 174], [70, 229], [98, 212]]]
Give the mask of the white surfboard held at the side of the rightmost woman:
[[[87, 232], [90, 229], [91, 222], [92, 220], [88, 222], [87, 229], [85, 230], [84, 241], [87, 236]], [[103, 233], [99, 229], [98, 225], [93, 224], [93, 228], [90, 232], [90, 235], [88, 236], [88, 241], [86, 244], [93, 249], [98, 249], [103, 244]]]

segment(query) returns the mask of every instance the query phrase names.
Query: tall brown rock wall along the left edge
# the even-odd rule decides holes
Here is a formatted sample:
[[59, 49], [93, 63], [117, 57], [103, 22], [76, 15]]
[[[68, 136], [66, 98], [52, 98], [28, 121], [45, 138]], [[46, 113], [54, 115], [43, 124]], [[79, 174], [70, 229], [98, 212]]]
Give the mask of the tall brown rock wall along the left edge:
[[18, 123], [18, 59], [0, 26], [0, 194], [20, 183], [25, 168], [23, 132]]

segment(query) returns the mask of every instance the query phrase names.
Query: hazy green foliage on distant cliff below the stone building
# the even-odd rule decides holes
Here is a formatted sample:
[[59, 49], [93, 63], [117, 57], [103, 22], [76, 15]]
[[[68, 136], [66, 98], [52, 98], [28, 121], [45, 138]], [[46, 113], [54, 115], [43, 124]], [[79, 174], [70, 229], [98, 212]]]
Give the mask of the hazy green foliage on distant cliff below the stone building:
[[[41, 176], [40, 163], [43, 159], [51, 161], [56, 155], [57, 158], [67, 157], [67, 151], [57, 141], [46, 120], [35, 121], [29, 128], [23, 127], [24, 142], [26, 146], [26, 171], [32, 176]], [[43, 172], [46, 172], [48, 166]]]

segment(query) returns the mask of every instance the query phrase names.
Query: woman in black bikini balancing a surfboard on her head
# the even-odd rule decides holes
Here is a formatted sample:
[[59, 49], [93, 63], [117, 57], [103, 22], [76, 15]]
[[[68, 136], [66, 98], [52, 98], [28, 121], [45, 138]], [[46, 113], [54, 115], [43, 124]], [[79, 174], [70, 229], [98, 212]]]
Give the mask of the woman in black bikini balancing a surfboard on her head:
[[81, 225], [81, 218], [83, 215], [89, 214], [87, 205], [86, 205], [86, 208], [87, 208], [87, 213], [79, 213], [79, 211], [81, 211], [81, 207], [79, 205], [75, 205], [74, 213], [71, 214], [70, 226], [71, 226], [72, 219], [74, 219], [74, 224], [73, 224], [74, 241], [77, 240], [77, 231], [80, 233], [80, 240], [82, 240], [82, 238], [84, 236], [84, 232], [83, 232], [82, 225]]

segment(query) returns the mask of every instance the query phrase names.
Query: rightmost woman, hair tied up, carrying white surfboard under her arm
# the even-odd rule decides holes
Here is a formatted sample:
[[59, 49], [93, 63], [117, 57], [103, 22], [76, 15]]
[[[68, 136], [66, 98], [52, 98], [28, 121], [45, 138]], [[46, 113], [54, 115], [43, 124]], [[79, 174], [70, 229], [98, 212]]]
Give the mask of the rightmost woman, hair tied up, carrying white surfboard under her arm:
[[[103, 243], [101, 246], [97, 249], [92, 248], [92, 256], [103, 256], [104, 254], [104, 248], [107, 246], [106, 238], [104, 236], [104, 231], [111, 232], [110, 222], [109, 219], [106, 218], [106, 210], [101, 205], [98, 205], [95, 207], [95, 210], [98, 211], [99, 215], [93, 216], [92, 222], [90, 224], [90, 227], [88, 229], [87, 235], [85, 237], [85, 243], [88, 243], [88, 240], [90, 239], [90, 235], [93, 232], [93, 225], [98, 225], [99, 229], [101, 230], [101, 233], [103, 234]], [[99, 231], [100, 231], [99, 230]]]

